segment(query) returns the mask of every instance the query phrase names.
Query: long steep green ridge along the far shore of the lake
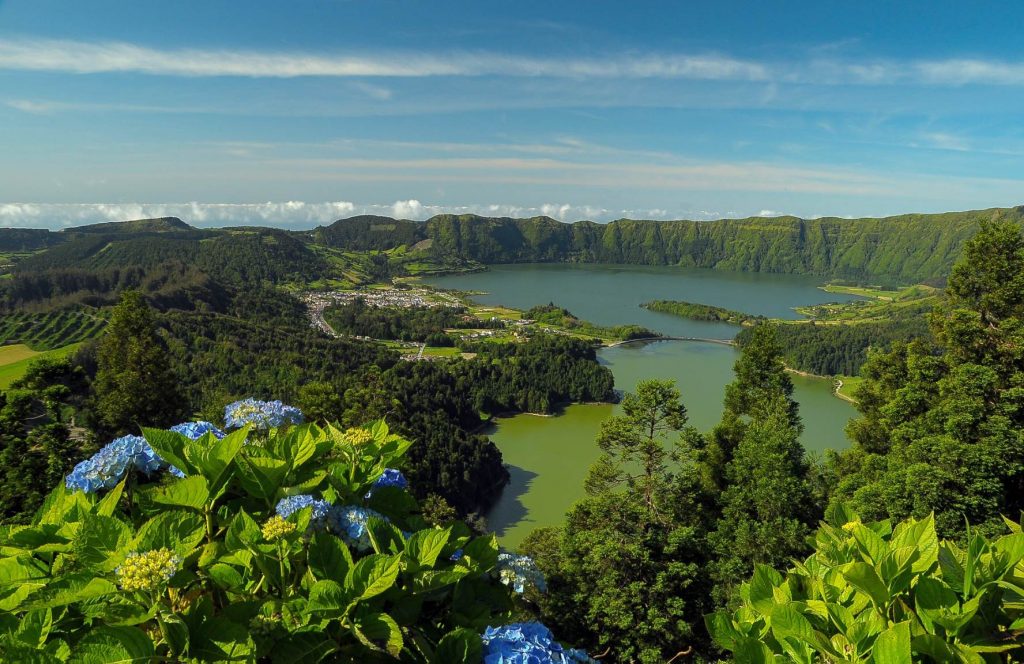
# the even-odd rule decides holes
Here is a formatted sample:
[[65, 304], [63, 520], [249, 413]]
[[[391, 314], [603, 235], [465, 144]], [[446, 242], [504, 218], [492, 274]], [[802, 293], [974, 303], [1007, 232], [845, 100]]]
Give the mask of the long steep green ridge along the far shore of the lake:
[[483, 263], [605, 262], [812, 274], [884, 282], [942, 281], [983, 219], [1024, 220], [1024, 206], [863, 219], [751, 217], [717, 221], [441, 214], [426, 222], [341, 219], [314, 233], [338, 248], [387, 249], [431, 240], [437, 255]]

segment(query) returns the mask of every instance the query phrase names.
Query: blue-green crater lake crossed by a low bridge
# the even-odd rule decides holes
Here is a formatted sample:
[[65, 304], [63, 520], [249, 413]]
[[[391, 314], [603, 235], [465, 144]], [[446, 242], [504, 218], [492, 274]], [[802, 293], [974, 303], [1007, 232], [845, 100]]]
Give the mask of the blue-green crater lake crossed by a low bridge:
[[[671, 336], [731, 339], [739, 328], [724, 323], [689, 321], [648, 312], [639, 304], [675, 299], [769, 316], [799, 318], [794, 306], [856, 299], [818, 288], [820, 279], [793, 275], [728, 273], [712, 269], [634, 265], [495, 265], [488, 272], [426, 280], [433, 286], [483, 291], [483, 304], [526, 309], [554, 302], [599, 325], [636, 323]], [[689, 414], [700, 430], [714, 426], [722, 413], [724, 388], [732, 380], [738, 351], [727, 345], [693, 341], [640, 342], [603, 348], [599, 360], [611, 369], [615, 387], [633, 389], [645, 378], [676, 381]], [[843, 428], [856, 415], [831, 393], [831, 383], [793, 376], [804, 420], [801, 442], [812, 453], [847, 446]], [[583, 496], [583, 481], [599, 451], [594, 443], [610, 405], [574, 405], [558, 416], [503, 418], [487, 433], [509, 466], [511, 483], [487, 514], [487, 525], [508, 547], [535, 528], [559, 524]]]

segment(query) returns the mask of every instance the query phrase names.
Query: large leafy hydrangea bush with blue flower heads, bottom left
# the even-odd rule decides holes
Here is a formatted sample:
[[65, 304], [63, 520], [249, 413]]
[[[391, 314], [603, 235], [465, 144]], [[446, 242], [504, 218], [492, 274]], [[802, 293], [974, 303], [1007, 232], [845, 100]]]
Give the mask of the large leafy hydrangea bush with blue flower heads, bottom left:
[[393, 469], [409, 441], [240, 403], [230, 433], [114, 441], [0, 527], [0, 661], [579, 661], [501, 627], [538, 578], [424, 521]]

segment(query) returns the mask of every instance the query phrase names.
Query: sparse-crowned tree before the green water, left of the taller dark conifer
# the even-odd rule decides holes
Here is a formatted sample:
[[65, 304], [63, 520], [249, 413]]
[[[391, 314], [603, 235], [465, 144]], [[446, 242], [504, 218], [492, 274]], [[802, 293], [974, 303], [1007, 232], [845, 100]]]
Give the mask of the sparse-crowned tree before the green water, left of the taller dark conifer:
[[614, 661], [664, 662], [701, 642], [709, 500], [689, 454], [696, 435], [673, 383], [642, 381], [602, 425], [588, 497], [563, 529], [523, 544], [548, 577], [545, 620]]

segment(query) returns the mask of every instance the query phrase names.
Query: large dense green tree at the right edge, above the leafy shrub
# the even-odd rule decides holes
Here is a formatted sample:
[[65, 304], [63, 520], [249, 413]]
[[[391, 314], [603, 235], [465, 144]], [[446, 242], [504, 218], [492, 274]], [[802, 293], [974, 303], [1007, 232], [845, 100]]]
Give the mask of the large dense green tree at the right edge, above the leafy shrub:
[[1024, 239], [984, 222], [931, 317], [936, 344], [897, 346], [864, 367], [853, 449], [834, 502], [865, 518], [924, 518], [943, 536], [965, 517], [995, 533], [1024, 507]]

